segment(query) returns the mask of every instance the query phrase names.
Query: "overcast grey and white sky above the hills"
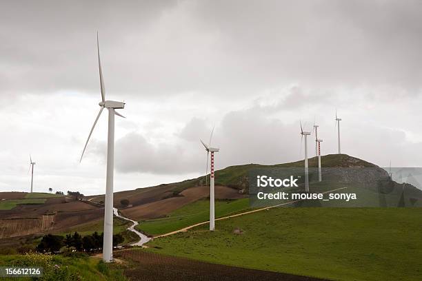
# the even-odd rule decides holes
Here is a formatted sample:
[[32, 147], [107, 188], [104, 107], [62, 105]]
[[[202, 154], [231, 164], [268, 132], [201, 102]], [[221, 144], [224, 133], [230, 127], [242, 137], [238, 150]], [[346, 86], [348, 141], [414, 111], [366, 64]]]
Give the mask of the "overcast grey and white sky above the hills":
[[[3, 1], [0, 191], [102, 194], [107, 113], [99, 31], [116, 118], [114, 190], [217, 169], [299, 160], [300, 128], [322, 154], [422, 166], [422, 1]], [[311, 137], [311, 139], [313, 136]], [[314, 156], [314, 142], [308, 145]]]

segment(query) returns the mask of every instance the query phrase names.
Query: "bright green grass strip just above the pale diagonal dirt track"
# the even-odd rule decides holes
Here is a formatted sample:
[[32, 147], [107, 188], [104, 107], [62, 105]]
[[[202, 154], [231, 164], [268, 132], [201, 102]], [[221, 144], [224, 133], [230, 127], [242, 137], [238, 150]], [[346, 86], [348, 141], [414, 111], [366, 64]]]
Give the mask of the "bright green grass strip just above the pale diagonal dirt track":
[[[248, 209], [249, 198], [238, 200], [217, 200], [215, 202], [216, 218], [228, 216]], [[205, 222], [210, 219], [210, 200], [198, 200], [173, 211], [165, 218], [143, 220], [137, 229], [150, 235], [168, 233], [183, 227]]]

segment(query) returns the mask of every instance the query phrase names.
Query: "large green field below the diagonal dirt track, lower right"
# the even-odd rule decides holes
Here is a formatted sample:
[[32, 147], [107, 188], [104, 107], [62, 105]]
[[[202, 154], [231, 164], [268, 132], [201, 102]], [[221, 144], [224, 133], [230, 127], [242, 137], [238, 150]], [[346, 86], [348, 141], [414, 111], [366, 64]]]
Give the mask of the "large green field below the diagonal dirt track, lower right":
[[421, 220], [420, 208], [275, 208], [157, 238], [147, 251], [334, 280], [421, 280]]

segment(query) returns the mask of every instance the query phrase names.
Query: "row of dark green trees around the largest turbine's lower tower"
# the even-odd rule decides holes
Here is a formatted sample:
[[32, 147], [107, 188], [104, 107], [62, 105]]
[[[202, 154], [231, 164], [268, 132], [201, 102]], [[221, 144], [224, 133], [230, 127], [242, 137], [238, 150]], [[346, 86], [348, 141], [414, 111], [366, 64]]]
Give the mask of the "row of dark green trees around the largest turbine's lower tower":
[[[103, 249], [103, 238], [103, 233], [99, 234], [97, 231], [92, 233], [92, 235], [83, 237], [77, 232], [67, 234], [66, 237], [47, 234], [41, 239], [36, 251], [40, 253], [58, 253], [62, 247], [86, 252], [101, 251]], [[123, 241], [124, 238], [120, 233], [113, 235], [113, 247], [117, 247]]]

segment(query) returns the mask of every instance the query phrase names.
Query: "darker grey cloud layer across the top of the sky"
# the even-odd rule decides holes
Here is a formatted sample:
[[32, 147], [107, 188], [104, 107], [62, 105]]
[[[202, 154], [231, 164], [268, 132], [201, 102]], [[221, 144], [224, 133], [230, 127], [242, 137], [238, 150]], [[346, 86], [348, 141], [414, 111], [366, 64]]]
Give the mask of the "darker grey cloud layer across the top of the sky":
[[315, 85], [421, 86], [421, 1], [8, 1], [1, 92], [254, 94]]

